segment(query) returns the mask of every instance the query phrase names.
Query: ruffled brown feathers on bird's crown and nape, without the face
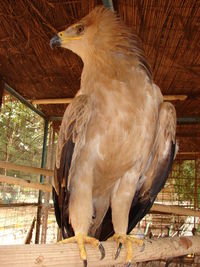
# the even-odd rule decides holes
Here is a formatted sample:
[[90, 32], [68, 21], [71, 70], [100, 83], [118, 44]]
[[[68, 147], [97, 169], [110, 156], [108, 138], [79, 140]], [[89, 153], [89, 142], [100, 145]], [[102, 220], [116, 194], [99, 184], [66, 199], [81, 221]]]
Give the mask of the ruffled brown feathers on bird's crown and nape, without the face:
[[138, 37], [112, 11], [103, 7], [95, 8], [87, 16], [87, 23], [96, 28], [90, 57], [93, 63], [95, 61], [97, 66], [109, 68], [111, 73], [118, 71], [113, 68], [130, 68], [132, 65], [141, 68], [152, 79], [151, 69]]

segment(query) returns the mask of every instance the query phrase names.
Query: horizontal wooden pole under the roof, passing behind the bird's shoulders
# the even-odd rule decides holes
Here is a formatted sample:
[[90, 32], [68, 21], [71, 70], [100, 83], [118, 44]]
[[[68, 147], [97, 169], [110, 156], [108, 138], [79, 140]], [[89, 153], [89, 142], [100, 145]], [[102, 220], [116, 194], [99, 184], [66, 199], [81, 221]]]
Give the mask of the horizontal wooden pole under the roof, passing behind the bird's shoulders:
[[[54, 105], [54, 104], [69, 104], [72, 102], [73, 98], [54, 98], [54, 99], [35, 99], [31, 100], [34, 105]], [[165, 101], [175, 101], [175, 100], [186, 100], [187, 95], [164, 95]]]

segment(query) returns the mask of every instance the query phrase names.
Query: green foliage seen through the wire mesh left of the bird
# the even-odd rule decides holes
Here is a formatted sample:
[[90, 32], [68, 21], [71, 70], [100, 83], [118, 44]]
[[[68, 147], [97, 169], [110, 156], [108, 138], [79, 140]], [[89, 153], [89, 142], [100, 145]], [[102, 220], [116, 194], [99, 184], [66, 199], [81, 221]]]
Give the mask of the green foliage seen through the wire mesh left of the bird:
[[[0, 160], [40, 167], [43, 129], [43, 120], [37, 114], [11, 96], [5, 96], [0, 112]], [[32, 181], [38, 181], [39, 178], [38, 175], [14, 170], [0, 169], [0, 173]], [[9, 187], [14, 200], [18, 187], [3, 187], [4, 190]]]

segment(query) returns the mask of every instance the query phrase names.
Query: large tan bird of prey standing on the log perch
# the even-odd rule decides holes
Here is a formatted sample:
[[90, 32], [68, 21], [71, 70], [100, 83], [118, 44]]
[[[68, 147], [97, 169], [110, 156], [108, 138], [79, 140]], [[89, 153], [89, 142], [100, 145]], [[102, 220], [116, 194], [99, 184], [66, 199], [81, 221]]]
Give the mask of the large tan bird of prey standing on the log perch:
[[[137, 37], [117, 16], [96, 7], [59, 32], [50, 45], [84, 63], [81, 86], [67, 107], [57, 143], [53, 189], [62, 242], [111, 237], [127, 249], [129, 236], [163, 188], [175, 154], [176, 112], [163, 102]], [[100, 240], [100, 241], [99, 241]]]

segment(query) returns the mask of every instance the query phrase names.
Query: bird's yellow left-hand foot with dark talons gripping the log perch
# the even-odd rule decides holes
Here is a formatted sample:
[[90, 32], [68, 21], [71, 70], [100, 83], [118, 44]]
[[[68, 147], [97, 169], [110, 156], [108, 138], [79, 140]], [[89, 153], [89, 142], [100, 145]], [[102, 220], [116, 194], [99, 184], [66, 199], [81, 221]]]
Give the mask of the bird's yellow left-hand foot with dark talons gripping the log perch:
[[84, 244], [90, 244], [91, 246], [95, 247], [95, 248], [99, 248], [100, 252], [101, 252], [101, 260], [105, 257], [105, 250], [103, 245], [99, 242], [98, 239], [94, 238], [94, 237], [90, 237], [84, 234], [77, 234], [73, 237], [64, 239], [60, 242], [58, 242], [58, 244], [68, 244], [68, 243], [77, 243], [78, 247], [79, 247], [79, 251], [80, 251], [80, 257], [83, 261], [84, 267], [87, 266], [87, 254], [86, 254], [86, 250], [85, 250], [85, 246]]

